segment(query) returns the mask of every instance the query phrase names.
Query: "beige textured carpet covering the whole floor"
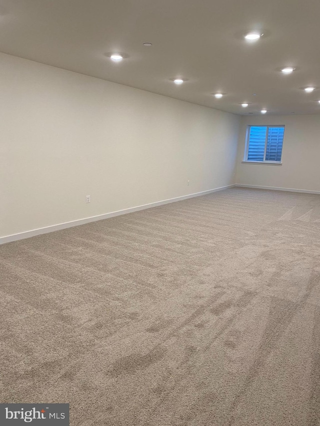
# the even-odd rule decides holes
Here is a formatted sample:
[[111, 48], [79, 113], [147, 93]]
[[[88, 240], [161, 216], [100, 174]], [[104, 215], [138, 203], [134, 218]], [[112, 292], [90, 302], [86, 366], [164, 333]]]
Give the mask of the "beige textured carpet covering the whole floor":
[[0, 246], [1, 402], [320, 425], [320, 196], [233, 188]]

